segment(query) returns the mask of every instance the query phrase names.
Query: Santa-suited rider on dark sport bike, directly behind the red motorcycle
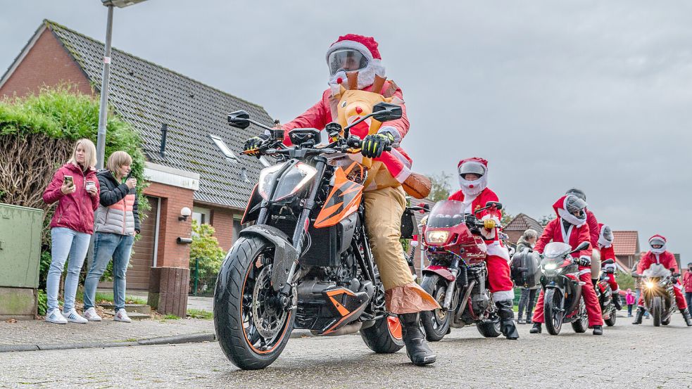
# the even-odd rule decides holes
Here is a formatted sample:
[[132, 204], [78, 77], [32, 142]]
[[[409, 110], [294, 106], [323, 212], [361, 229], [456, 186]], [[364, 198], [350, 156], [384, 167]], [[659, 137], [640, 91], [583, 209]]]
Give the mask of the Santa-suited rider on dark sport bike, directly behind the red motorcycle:
[[[567, 243], [572, 250], [582, 242], [588, 242], [589, 225], [586, 224], [586, 202], [574, 195], [562, 196], [553, 204], [557, 219], [551, 220], [543, 229], [543, 234], [536, 241], [534, 251], [543, 253], [546, 244], [553, 242]], [[603, 317], [601, 317], [600, 305], [596, 297], [596, 291], [591, 283], [591, 248], [581, 250], [579, 253], [579, 279], [584, 282], [581, 295], [584, 296], [586, 314], [589, 316], [589, 328], [593, 328], [593, 335], [603, 335]], [[541, 333], [543, 318], [543, 290], [536, 302], [534, 317], [531, 319], [534, 326], [530, 333]]]

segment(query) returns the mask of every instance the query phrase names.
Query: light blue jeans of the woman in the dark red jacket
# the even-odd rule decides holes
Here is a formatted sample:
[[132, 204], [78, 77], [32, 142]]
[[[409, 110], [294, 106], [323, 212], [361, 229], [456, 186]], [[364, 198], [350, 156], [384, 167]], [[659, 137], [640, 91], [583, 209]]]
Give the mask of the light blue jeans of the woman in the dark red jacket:
[[80, 282], [80, 272], [84, 257], [87, 257], [91, 234], [84, 234], [65, 227], [51, 229], [51, 267], [46, 278], [46, 295], [48, 298], [48, 311], [58, 307], [58, 289], [60, 288], [60, 276], [68, 262], [68, 275], [65, 276], [65, 303], [63, 310], [68, 311], [75, 307], [75, 294], [77, 284]]

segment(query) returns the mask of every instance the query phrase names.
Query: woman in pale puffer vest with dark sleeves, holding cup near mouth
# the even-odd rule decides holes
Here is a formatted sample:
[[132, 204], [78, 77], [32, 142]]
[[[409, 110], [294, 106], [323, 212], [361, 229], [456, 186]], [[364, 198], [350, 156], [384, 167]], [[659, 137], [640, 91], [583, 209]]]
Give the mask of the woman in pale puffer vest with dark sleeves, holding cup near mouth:
[[125, 151], [115, 151], [108, 158], [106, 169], [99, 170], [101, 205], [96, 210], [94, 260], [84, 281], [84, 317], [101, 321], [94, 309], [96, 286], [113, 259], [113, 320], [130, 323], [125, 311], [125, 274], [130, 263], [134, 236], [139, 234], [137, 210], [137, 179], [128, 178], [132, 157]]

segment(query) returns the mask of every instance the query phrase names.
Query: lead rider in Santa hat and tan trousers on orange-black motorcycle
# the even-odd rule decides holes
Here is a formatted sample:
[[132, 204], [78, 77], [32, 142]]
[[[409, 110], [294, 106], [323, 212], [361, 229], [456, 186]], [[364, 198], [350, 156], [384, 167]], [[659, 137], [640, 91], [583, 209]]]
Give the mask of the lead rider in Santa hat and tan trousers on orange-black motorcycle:
[[[358, 72], [358, 89], [373, 91], [375, 76], [384, 77], [382, 57], [377, 49], [377, 42], [372, 37], [347, 34], [332, 44], [327, 50], [329, 66], [329, 88], [322, 93], [322, 98], [305, 113], [289, 123], [282, 125], [284, 144], [290, 145], [289, 131], [294, 128], [324, 129], [325, 125], [336, 120], [334, 88], [339, 89], [341, 82], [348, 77], [347, 72]], [[377, 160], [386, 146], [393, 146], [393, 152], [409, 129], [403, 94], [394, 82], [386, 81], [380, 91], [373, 91], [385, 97], [396, 96], [401, 101], [401, 119], [386, 122], [377, 134], [370, 134], [363, 139], [361, 153], [366, 158]], [[268, 139], [267, 134], [260, 134], [248, 139], [245, 150], [251, 151]], [[397, 153], [404, 155], [405, 153]], [[403, 161], [406, 164], [407, 161]], [[408, 161], [410, 165], [410, 161]], [[408, 264], [401, 250], [401, 217], [405, 210], [405, 193], [401, 181], [391, 171], [381, 169], [374, 174], [374, 185], [368, 186], [363, 195], [365, 205], [365, 225], [372, 246], [372, 253], [382, 278], [385, 289], [386, 307], [389, 312], [398, 315], [402, 324], [402, 335], [406, 353], [411, 362], [417, 365], [431, 364], [436, 356], [425, 341], [419, 326], [419, 312], [439, 308], [437, 302], [413, 280]], [[398, 174], [395, 174], [398, 175]]]

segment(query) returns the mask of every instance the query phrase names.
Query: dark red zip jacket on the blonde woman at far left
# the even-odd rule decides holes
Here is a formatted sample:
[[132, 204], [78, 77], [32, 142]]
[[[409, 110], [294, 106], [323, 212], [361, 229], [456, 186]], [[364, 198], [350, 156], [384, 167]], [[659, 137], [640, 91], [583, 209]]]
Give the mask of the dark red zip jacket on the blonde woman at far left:
[[[60, 190], [63, 186], [63, 177], [72, 176], [77, 191], [68, 195]], [[91, 196], [85, 189], [86, 181], [94, 181], [96, 196]], [[94, 234], [94, 211], [99, 208], [99, 180], [96, 179], [96, 170], [90, 169], [82, 172], [82, 169], [72, 163], [66, 163], [53, 175], [43, 193], [46, 204], [58, 201], [58, 208], [51, 219], [51, 228], [65, 227], [85, 234]]]

